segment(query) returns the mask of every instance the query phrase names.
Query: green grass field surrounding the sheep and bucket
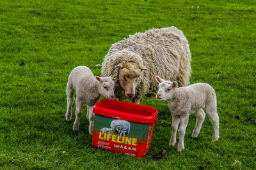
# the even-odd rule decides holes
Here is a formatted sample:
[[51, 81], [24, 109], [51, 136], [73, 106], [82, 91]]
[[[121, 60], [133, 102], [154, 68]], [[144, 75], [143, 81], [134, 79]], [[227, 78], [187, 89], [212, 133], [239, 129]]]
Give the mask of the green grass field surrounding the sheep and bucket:
[[[167, 102], [143, 98], [159, 111], [145, 157], [92, 148], [86, 114], [78, 132], [65, 120], [68, 74], [84, 65], [100, 75], [111, 44], [172, 25], [189, 41], [191, 83], [216, 90], [219, 141], [208, 117], [191, 138], [191, 115], [178, 153]], [[255, 27], [256, 1], [1, 0], [0, 169], [256, 169]]]

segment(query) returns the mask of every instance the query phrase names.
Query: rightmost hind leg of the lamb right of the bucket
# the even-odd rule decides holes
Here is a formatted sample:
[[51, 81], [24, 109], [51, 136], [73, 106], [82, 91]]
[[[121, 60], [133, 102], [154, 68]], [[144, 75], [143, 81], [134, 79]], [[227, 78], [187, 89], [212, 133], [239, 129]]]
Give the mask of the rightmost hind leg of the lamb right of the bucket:
[[214, 131], [213, 131], [212, 141], [214, 142], [220, 138], [220, 136], [219, 136], [219, 126], [220, 126], [219, 120], [220, 120], [220, 118], [218, 116], [216, 108], [211, 109], [211, 110], [206, 108], [206, 113], [209, 116], [209, 118], [212, 122], [212, 125], [213, 125]]

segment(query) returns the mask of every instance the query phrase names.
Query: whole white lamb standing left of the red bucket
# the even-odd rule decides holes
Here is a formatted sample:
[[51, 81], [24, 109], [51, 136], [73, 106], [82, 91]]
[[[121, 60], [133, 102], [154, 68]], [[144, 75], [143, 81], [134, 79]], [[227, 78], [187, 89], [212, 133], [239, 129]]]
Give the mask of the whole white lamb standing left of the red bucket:
[[76, 92], [76, 120], [73, 130], [79, 129], [79, 119], [82, 115], [82, 105], [87, 106], [87, 120], [90, 122], [89, 133], [93, 132], [94, 113], [93, 106], [99, 100], [100, 94], [113, 99], [114, 81], [111, 77], [94, 76], [92, 71], [86, 66], [75, 67], [68, 76], [67, 83], [67, 113], [65, 115], [67, 122], [72, 117], [71, 109], [74, 101], [74, 92]]

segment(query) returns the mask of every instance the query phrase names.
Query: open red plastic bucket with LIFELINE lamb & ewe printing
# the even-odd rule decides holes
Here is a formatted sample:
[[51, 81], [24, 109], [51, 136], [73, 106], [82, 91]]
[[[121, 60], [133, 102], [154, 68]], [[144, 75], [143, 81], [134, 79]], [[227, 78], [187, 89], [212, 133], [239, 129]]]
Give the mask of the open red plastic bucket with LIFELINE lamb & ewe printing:
[[156, 108], [102, 99], [93, 113], [93, 146], [135, 157], [146, 155], [156, 127]]

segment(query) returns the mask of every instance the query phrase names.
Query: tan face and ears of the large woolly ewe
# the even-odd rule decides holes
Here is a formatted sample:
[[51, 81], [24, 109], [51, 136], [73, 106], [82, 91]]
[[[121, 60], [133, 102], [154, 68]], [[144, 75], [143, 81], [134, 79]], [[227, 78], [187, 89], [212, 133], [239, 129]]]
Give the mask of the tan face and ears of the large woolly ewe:
[[118, 80], [122, 89], [125, 91], [125, 96], [129, 99], [133, 99], [135, 96], [138, 78], [142, 74], [143, 70], [148, 69], [136, 62], [118, 64], [116, 69], [120, 69]]

